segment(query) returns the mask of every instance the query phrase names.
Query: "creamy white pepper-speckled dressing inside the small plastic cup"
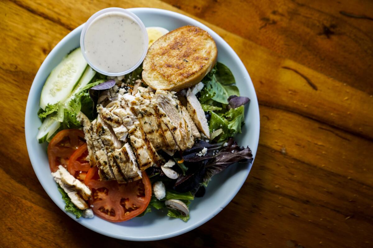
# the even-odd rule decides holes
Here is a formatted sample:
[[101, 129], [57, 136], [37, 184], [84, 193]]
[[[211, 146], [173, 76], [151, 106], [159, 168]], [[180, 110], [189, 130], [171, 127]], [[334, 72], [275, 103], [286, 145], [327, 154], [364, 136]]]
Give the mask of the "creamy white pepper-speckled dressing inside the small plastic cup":
[[144, 38], [132, 17], [121, 12], [104, 13], [93, 20], [85, 33], [85, 54], [101, 71], [120, 73], [141, 59]]

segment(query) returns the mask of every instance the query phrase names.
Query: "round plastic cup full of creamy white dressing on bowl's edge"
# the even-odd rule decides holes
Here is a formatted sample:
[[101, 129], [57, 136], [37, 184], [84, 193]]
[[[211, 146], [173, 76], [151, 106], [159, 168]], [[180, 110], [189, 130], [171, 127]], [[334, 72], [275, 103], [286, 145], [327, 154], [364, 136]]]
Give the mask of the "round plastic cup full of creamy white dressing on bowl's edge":
[[93, 70], [121, 76], [135, 70], [148, 49], [148, 33], [134, 13], [107, 8], [94, 13], [85, 23], [80, 47]]

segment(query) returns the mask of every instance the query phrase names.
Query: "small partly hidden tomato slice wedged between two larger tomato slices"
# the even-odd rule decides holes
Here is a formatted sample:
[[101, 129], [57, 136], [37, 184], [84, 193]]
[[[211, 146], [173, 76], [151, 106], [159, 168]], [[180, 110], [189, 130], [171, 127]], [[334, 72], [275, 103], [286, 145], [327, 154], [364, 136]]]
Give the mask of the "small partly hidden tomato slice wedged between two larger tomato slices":
[[68, 171], [76, 179], [84, 181], [85, 175], [90, 170], [91, 165], [87, 161], [88, 148], [87, 144], [81, 145], [76, 151], [71, 155], [68, 164]]

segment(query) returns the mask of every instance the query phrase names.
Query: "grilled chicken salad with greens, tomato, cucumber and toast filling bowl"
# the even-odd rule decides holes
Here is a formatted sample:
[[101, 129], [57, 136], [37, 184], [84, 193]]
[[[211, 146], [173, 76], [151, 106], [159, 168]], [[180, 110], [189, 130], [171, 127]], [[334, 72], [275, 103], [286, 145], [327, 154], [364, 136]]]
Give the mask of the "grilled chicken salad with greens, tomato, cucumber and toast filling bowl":
[[[167, 71], [192, 70], [193, 54], [182, 59], [191, 65], [173, 66], [184, 43], [167, 54], [165, 42], [184, 39], [189, 31], [203, 32], [198, 37], [207, 32], [192, 26], [164, 30], [147, 29], [147, 56], [128, 74], [98, 73], [76, 48], [44, 84], [37, 139], [49, 143], [51, 176], [65, 210], [76, 218], [122, 222], [165, 209], [167, 216], [187, 221], [193, 200], [204, 196], [214, 175], [253, 160], [250, 149], [234, 140], [250, 100], [240, 96], [231, 70], [216, 62], [216, 54], [209, 61], [204, 55], [206, 66], [194, 62], [205, 70], [201, 79], [184, 71], [175, 80], [175, 70]], [[186, 42], [186, 50], [201, 47], [198, 37]], [[209, 42], [202, 47], [216, 49]], [[157, 56], [170, 66], [154, 63]], [[154, 76], [159, 68], [165, 68], [160, 75], [172, 75], [165, 76], [173, 80], [169, 89]]]

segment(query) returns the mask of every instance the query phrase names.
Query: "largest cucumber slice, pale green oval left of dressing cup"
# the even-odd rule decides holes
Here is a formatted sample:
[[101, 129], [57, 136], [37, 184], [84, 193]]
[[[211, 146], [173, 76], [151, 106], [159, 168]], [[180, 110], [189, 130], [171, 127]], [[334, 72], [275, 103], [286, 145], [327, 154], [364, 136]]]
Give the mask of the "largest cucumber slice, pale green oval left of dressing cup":
[[76, 48], [57, 65], [48, 76], [40, 96], [40, 107], [65, 102], [81, 79], [87, 62], [80, 48]]

